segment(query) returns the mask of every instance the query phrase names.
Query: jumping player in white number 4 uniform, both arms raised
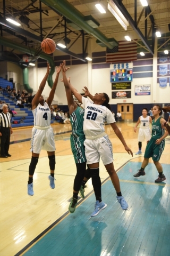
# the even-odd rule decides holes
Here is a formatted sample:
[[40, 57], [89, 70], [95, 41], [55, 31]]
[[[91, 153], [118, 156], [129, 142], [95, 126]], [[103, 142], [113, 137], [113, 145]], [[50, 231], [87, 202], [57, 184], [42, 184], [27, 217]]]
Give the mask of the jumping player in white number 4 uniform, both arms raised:
[[52, 87], [52, 90], [49, 93], [49, 97], [46, 102], [44, 102], [44, 98], [41, 95], [44, 87], [47, 82], [47, 78], [49, 75], [50, 66], [47, 62], [47, 73], [41, 82], [38, 92], [32, 97], [32, 101], [30, 102], [32, 105], [32, 113], [34, 117], [34, 126], [32, 128], [32, 138], [31, 138], [31, 149], [32, 158], [29, 166], [29, 179], [28, 179], [28, 195], [33, 196], [33, 174], [36, 169], [36, 165], [38, 163], [38, 158], [41, 149], [47, 151], [49, 158], [49, 167], [50, 167], [50, 175], [49, 186], [50, 188], [55, 188], [54, 183], [54, 170], [55, 170], [55, 141], [54, 141], [54, 133], [53, 128], [50, 126], [50, 106], [54, 99], [55, 90], [58, 83], [58, 77], [61, 71], [61, 66], [56, 68], [56, 78]]

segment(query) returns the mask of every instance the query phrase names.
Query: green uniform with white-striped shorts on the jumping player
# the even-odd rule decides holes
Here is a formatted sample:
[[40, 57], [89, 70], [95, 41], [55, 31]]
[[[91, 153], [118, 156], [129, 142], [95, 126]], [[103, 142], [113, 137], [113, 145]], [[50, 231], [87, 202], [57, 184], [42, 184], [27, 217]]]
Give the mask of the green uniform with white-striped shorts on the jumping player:
[[72, 134], [70, 137], [71, 149], [75, 163], [86, 162], [83, 132], [84, 109], [78, 107], [71, 115]]

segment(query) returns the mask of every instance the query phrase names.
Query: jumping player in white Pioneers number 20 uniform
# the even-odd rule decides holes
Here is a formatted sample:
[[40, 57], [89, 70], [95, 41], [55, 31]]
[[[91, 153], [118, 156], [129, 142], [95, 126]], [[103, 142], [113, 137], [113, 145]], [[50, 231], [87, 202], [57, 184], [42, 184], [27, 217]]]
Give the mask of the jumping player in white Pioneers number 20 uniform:
[[[65, 61], [63, 61], [62, 68], [66, 70]], [[87, 164], [91, 170], [91, 178], [92, 176], [99, 176], [99, 161], [101, 157], [116, 190], [117, 201], [120, 203], [122, 210], [127, 210], [128, 203], [125, 201], [121, 193], [120, 181], [113, 165], [112, 142], [109, 140], [108, 135], [105, 133], [104, 122], [107, 122], [112, 126], [112, 129], [114, 130], [117, 137], [121, 140], [128, 154], [133, 156], [133, 153], [131, 149], [126, 145], [123, 135], [116, 125], [115, 118], [113, 117], [110, 106], [108, 104], [109, 97], [106, 93], [96, 93], [92, 98], [94, 101], [93, 102], [90, 99], [82, 97], [82, 95], [78, 93], [77, 90], [72, 86], [71, 90], [75, 98], [77, 98], [78, 101], [81, 102], [84, 106], [83, 131], [86, 136], [84, 146]], [[105, 209], [106, 206], [107, 205], [103, 203], [101, 199], [100, 201], [96, 201], [95, 210], [92, 212], [91, 217], [96, 216], [98, 212]]]

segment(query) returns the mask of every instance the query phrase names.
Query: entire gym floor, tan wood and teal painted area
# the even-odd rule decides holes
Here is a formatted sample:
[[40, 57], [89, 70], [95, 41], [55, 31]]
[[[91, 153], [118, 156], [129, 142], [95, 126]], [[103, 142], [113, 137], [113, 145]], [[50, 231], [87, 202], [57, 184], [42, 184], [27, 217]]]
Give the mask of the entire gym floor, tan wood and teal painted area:
[[[134, 178], [143, 154], [138, 151], [135, 123], [117, 123], [134, 156], [126, 153], [109, 125], [106, 132], [113, 143], [114, 166], [129, 209], [122, 211], [108, 174], [100, 163], [102, 198], [106, 209], [91, 218], [95, 196], [91, 179], [86, 197], [79, 200], [74, 214], [68, 212], [72, 197], [75, 164], [70, 149], [70, 125], [54, 125], [56, 140], [56, 188], [50, 189], [48, 157], [41, 151], [33, 179], [35, 195], [27, 195], [31, 129], [14, 130], [10, 154], [1, 158], [0, 255], [169, 255], [170, 138], [160, 159], [166, 180], [156, 184], [152, 161], [146, 175]], [[146, 142], [142, 143], [144, 153]]]

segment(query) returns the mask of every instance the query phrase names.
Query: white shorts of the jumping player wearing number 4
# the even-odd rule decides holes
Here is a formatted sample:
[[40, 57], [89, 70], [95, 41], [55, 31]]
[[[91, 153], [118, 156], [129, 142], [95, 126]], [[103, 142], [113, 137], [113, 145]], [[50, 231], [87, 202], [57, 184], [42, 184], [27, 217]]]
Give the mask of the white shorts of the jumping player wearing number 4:
[[54, 132], [51, 126], [47, 130], [32, 128], [30, 151], [39, 154], [41, 149], [55, 151]]

